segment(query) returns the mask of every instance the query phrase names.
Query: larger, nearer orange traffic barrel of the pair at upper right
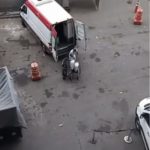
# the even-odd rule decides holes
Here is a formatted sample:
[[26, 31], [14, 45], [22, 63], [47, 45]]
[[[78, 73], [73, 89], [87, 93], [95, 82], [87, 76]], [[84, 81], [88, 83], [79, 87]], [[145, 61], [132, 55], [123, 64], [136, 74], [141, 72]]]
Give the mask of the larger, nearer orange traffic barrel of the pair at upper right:
[[135, 13], [135, 16], [134, 16], [134, 24], [135, 25], [141, 25], [143, 20], [142, 20], [142, 14], [143, 14], [143, 9], [141, 7], [138, 7], [137, 8], [137, 11]]

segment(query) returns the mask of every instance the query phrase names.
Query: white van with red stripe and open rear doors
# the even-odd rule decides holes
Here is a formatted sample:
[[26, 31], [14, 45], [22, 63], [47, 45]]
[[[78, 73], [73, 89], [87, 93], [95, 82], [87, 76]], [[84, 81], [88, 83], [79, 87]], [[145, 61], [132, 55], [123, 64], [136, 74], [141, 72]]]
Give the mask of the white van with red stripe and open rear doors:
[[55, 0], [26, 0], [20, 16], [22, 24], [31, 28], [55, 61], [78, 47], [78, 43], [83, 42], [86, 48], [85, 25], [75, 21]]

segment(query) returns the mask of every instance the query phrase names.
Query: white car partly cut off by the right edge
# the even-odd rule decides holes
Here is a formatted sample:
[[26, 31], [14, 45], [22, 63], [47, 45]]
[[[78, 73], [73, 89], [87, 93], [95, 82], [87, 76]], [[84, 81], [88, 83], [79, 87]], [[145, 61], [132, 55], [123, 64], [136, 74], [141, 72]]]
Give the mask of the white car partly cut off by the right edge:
[[138, 104], [135, 124], [142, 135], [146, 150], [150, 150], [150, 97]]

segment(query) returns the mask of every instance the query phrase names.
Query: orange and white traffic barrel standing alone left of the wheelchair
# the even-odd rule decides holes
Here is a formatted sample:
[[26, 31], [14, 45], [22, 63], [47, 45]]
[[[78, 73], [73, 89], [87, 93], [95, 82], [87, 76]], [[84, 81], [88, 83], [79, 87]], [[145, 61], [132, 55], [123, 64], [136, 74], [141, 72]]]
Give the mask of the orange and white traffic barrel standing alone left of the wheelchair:
[[40, 73], [40, 70], [39, 70], [39, 65], [38, 63], [36, 62], [33, 62], [31, 64], [31, 78], [33, 81], [37, 81], [37, 80], [40, 80], [41, 79], [41, 73]]

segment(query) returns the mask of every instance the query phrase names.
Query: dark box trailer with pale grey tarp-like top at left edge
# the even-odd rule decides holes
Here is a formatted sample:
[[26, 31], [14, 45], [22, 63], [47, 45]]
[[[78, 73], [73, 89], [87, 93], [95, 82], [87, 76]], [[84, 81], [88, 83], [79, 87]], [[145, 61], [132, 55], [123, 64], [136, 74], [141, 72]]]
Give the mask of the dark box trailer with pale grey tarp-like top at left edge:
[[7, 67], [0, 68], [0, 140], [22, 137], [25, 120]]

